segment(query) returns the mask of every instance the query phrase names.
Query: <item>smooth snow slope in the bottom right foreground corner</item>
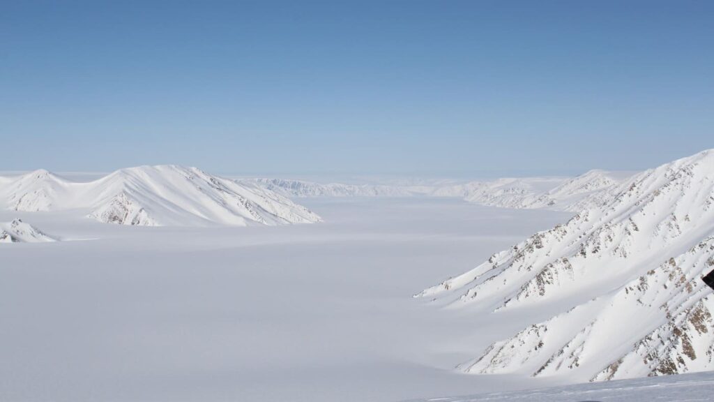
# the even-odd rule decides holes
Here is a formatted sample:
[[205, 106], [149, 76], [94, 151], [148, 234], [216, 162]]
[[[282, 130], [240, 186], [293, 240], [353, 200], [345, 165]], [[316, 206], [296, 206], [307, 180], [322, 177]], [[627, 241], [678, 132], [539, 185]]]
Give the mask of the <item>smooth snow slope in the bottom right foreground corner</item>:
[[472, 396], [428, 398], [411, 402], [701, 402], [712, 400], [714, 373], [585, 383], [530, 391], [483, 393]]

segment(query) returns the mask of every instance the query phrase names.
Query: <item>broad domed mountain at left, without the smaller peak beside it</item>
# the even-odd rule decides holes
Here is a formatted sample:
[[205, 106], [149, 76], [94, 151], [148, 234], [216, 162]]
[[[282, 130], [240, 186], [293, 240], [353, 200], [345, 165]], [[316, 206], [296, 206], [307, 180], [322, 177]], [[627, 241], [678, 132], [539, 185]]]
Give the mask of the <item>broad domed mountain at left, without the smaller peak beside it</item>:
[[90, 213], [121, 225], [283, 225], [320, 218], [280, 195], [238, 185], [195, 167], [143, 166], [99, 180], [99, 200]]

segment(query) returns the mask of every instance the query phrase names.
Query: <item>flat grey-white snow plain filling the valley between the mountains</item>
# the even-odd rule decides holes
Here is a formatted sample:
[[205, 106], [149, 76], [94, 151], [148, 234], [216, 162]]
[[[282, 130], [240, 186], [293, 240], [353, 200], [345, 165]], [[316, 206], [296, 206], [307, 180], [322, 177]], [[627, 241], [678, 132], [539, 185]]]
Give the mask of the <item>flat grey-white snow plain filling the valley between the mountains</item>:
[[0, 245], [0, 399], [398, 401], [557, 385], [454, 370], [537, 317], [496, 322], [411, 295], [570, 213], [301, 203], [324, 222], [130, 227], [0, 211], [64, 240]]

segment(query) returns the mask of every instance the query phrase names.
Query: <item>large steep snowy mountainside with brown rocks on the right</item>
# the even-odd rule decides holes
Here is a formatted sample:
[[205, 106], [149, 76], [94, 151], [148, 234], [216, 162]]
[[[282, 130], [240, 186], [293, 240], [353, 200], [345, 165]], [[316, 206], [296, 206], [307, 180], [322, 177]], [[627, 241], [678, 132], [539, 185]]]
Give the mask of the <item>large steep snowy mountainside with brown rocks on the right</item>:
[[714, 269], [714, 150], [601, 184], [610, 200], [418, 295], [496, 315], [556, 310], [461, 370], [597, 381], [714, 369], [714, 296], [700, 280]]

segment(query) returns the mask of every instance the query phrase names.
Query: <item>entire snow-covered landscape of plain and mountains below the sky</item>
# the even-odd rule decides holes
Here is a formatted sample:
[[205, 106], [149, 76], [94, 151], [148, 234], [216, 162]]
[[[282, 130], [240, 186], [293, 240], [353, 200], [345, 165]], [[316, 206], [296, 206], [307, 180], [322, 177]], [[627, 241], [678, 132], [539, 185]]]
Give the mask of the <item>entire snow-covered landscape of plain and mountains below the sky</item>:
[[39, 170], [0, 202], [6, 240], [83, 240], [0, 247], [3, 400], [708, 398], [612, 380], [714, 369], [714, 151], [462, 185]]

